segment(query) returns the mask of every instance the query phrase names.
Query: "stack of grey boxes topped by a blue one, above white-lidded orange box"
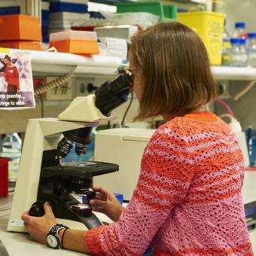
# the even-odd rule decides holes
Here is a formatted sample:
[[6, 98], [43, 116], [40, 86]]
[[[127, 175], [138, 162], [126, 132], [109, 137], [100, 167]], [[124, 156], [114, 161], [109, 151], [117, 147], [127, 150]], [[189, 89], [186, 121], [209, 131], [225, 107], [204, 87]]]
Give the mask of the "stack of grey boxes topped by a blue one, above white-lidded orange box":
[[71, 29], [75, 20], [89, 19], [87, 0], [50, 0], [50, 33]]

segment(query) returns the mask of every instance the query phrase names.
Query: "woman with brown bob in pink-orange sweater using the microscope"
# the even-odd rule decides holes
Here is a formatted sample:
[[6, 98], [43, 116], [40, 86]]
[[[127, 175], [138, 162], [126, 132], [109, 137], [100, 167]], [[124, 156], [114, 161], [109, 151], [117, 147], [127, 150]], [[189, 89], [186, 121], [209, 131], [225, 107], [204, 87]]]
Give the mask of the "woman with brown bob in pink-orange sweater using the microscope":
[[[148, 142], [139, 181], [123, 209], [98, 187], [90, 203], [108, 227], [59, 230], [62, 247], [98, 255], [252, 255], [242, 203], [244, 164], [230, 128], [203, 105], [218, 95], [203, 42], [180, 23], [161, 23], [132, 39], [130, 70], [138, 120], [162, 114]], [[46, 243], [56, 220], [49, 205], [23, 214], [35, 241]], [[63, 236], [63, 233], [65, 235]]]

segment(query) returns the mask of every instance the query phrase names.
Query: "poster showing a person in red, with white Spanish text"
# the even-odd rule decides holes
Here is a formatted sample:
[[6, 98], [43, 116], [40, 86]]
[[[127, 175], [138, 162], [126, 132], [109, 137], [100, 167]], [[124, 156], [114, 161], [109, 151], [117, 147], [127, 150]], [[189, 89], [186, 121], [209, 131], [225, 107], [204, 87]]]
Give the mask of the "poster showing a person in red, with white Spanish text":
[[0, 110], [35, 108], [29, 53], [0, 48]]

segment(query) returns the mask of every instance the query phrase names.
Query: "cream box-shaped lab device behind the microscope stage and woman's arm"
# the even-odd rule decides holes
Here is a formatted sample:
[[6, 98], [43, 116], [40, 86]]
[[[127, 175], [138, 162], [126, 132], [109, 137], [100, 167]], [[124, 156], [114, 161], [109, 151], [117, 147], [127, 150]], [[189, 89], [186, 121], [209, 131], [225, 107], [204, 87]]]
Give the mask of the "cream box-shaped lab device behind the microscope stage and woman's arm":
[[117, 128], [96, 133], [94, 160], [117, 163], [119, 172], [108, 173], [104, 178], [95, 176], [93, 185], [123, 194], [123, 200], [130, 200], [139, 178], [143, 151], [154, 131]]

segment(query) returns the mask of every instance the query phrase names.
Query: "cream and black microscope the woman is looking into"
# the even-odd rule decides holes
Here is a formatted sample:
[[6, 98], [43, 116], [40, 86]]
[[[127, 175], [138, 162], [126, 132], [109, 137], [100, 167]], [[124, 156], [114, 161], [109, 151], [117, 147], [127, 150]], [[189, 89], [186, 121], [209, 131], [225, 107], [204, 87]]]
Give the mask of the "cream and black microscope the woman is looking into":
[[102, 84], [95, 95], [75, 98], [58, 118], [29, 120], [8, 231], [26, 232], [21, 215], [28, 209], [30, 215], [44, 215], [44, 202], [50, 203], [60, 224], [78, 230], [101, 225], [91, 206], [81, 204], [75, 195], [85, 194], [89, 202], [96, 195], [93, 176], [116, 172], [119, 166], [93, 161], [64, 163], [62, 159], [73, 146], [76, 154], [86, 154], [93, 126], [113, 118], [111, 111], [126, 102], [133, 75], [125, 69], [120, 73], [114, 81]]

